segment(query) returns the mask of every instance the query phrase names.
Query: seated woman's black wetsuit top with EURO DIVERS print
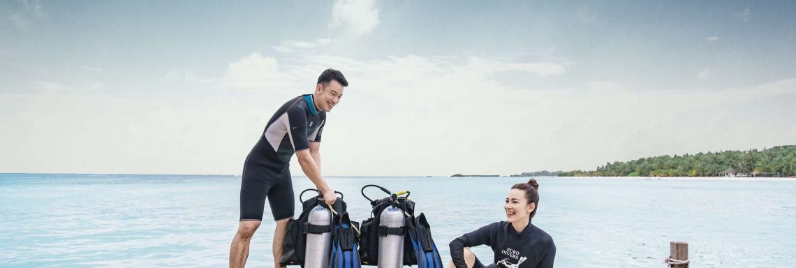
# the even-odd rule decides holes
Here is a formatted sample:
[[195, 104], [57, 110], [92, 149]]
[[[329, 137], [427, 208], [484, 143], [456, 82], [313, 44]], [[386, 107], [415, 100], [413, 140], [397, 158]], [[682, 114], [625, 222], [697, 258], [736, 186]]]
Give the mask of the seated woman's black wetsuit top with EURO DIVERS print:
[[[451, 259], [456, 267], [466, 267], [464, 247], [487, 245], [494, 251], [489, 267], [552, 268], [556, 244], [552, 237], [530, 222], [517, 233], [511, 223], [498, 222], [481, 227], [451, 241]], [[485, 267], [475, 258], [474, 268]]]

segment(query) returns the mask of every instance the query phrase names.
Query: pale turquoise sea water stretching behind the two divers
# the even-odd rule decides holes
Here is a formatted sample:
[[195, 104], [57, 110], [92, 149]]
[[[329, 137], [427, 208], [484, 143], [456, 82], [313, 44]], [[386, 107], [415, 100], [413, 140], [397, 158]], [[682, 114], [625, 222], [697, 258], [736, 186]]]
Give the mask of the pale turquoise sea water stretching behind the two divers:
[[[355, 220], [370, 211], [362, 185], [412, 191], [444, 262], [451, 239], [504, 219], [505, 193], [524, 181], [327, 180], [345, 193]], [[796, 181], [538, 180], [533, 223], [555, 240], [556, 267], [665, 267], [661, 260], [673, 240], [689, 242], [692, 267], [796, 267]], [[294, 184], [297, 190], [310, 186], [305, 177], [295, 177]], [[240, 177], [0, 174], [0, 266], [226, 266], [239, 190]], [[273, 227], [263, 221], [250, 266], [271, 266]], [[492, 258], [488, 247], [474, 251], [482, 260]]]

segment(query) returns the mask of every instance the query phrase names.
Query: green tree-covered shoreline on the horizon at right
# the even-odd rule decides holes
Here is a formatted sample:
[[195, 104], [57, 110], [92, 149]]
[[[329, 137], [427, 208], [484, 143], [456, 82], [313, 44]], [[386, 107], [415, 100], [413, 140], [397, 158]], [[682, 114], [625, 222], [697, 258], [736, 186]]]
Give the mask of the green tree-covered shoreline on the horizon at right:
[[639, 158], [606, 163], [596, 170], [572, 170], [559, 177], [717, 177], [734, 169], [736, 173], [779, 173], [796, 176], [796, 146], [775, 146], [763, 150], [696, 153]]

